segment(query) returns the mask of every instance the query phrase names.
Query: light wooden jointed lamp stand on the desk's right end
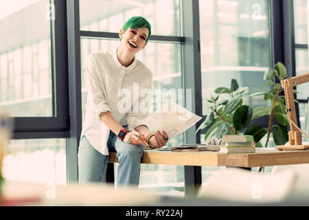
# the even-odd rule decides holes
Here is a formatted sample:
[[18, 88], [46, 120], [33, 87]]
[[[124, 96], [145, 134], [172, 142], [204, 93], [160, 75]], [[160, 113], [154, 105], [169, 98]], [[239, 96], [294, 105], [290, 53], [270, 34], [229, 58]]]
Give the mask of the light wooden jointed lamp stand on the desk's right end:
[[282, 88], [284, 88], [284, 96], [286, 98], [286, 112], [290, 119], [290, 131], [288, 131], [289, 144], [276, 146], [277, 150], [306, 150], [309, 148], [309, 145], [303, 144], [301, 140], [301, 132], [297, 127], [295, 101], [293, 96], [293, 87], [307, 82], [309, 82], [309, 73], [281, 81]]

